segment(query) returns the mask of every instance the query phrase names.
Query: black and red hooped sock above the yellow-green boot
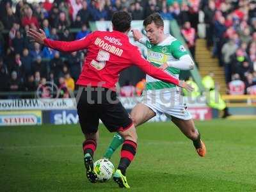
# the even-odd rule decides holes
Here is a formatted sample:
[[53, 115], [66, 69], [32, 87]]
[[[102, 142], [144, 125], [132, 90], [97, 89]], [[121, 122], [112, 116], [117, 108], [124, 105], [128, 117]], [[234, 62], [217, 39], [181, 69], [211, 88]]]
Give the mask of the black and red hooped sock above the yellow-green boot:
[[137, 144], [131, 140], [125, 140], [121, 149], [121, 159], [118, 166], [118, 170], [125, 175], [125, 171], [136, 154]]

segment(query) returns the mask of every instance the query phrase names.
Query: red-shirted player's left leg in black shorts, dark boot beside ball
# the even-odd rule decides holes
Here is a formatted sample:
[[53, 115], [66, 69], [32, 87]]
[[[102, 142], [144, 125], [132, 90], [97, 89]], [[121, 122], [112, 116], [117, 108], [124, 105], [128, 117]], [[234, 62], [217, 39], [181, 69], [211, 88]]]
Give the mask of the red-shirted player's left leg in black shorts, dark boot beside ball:
[[[92, 94], [90, 94], [90, 96], [92, 96]], [[99, 137], [99, 113], [97, 113], [97, 110], [95, 105], [88, 103], [87, 91], [84, 90], [77, 103], [77, 114], [85, 136], [83, 142], [84, 166], [86, 168], [86, 177], [90, 182], [97, 182], [97, 175], [93, 170], [93, 154], [97, 148], [97, 140]]]

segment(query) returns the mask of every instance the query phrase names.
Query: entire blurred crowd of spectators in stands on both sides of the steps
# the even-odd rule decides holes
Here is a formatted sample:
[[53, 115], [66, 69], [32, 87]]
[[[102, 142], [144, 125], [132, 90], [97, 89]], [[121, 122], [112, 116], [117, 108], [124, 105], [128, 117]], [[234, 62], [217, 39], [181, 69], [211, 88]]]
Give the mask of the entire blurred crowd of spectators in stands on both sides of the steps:
[[[230, 93], [255, 93], [256, 1], [249, 0], [42, 0], [38, 3], [0, 2], [0, 92], [33, 92], [52, 97], [47, 82], [56, 84], [60, 97], [69, 97], [83, 66], [86, 51], [65, 54], [30, 42], [29, 28], [43, 29], [47, 38], [71, 41], [91, 31], [89, 22], [110, 20], [116, 10], [143, 20], [154, 12], [177, 20], [191, 55], [195, 58], [200, 13], [204, 15], [207, 47], [225, 70]], [[145, 79], [131, 84], [125, 79], [120, 95], [141, 95]], [[124, 85], [124, 86], [123, 86]], [[237, 89], [239, 87], [239, 89]], [[10, 94], [17, 98], [19, 95]]]

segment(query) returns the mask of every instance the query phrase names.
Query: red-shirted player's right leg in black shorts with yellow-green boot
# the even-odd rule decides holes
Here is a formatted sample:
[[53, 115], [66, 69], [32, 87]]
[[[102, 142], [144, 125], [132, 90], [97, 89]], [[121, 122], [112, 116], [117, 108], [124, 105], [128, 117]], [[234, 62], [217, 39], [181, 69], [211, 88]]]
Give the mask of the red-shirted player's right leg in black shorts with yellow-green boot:
[[[108, 93], [107, 93], [108, 94]], [[115, 104], [104, 101], [100, 120], [110, 132], [119, 132], [124, 138], [124, 143], [120, 152], [120, 163], [118, 169], [113, 175], [113, 179], [121, 188], [129, 188], [125, 172], [133, 160], [137, 148], [137, 134], [132, 119], [116, 99], [116, 93], [111, 92], [111, 99], [116, 100]]]

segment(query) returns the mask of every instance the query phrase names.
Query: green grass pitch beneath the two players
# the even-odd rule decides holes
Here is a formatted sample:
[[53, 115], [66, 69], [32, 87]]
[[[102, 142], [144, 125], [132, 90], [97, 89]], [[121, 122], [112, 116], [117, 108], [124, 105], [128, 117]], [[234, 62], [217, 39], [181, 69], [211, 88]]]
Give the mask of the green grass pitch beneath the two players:
[[[139, 127], [138, 153], [127, 170], [131, 191], [256, 191], [255, 121], [196, 126], [205, 158], [172, 123]], [[100, 126], [95, 160], [112, 136]], [[0, 191], [120, 191], [113, 180], [88, 182], [82, 143], [79, 125], [0, 127]], [[118, 160], [119, 150], [111, 161], [116, 166]]]

